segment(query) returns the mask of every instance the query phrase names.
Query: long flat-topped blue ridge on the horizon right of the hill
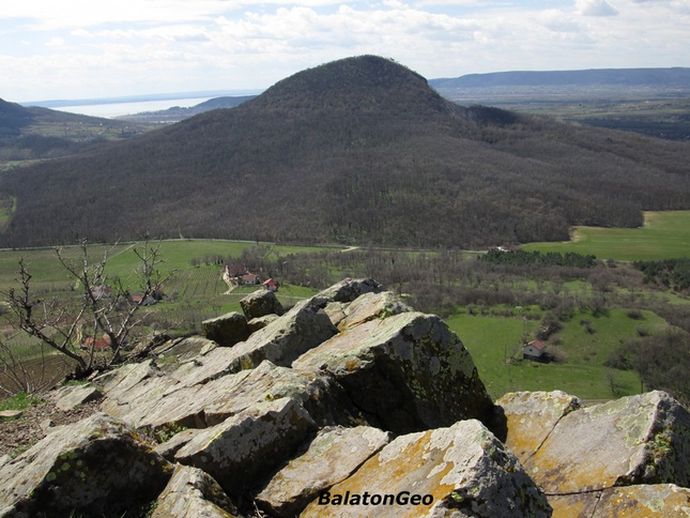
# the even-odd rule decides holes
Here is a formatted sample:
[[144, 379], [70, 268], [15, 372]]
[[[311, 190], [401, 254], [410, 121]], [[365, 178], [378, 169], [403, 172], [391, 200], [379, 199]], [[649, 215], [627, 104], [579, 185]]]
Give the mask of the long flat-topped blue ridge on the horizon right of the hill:
[[690, 68], [606, 68], [563, 71], [513, 71], [468, 74], [429, 81], [434, 88], [565, 85], [654, 85], [690, 89]]

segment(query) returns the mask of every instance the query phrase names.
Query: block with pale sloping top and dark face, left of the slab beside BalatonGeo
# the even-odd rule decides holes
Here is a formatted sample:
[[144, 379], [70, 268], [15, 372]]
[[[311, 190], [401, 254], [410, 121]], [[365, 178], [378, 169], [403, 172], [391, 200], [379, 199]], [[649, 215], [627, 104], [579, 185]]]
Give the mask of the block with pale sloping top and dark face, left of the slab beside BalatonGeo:
[[267, 401], [199, 432], [175, 459], [203, 469], [228, 494], [238, 495], [288, 460], [315, 429], [295, 399]]

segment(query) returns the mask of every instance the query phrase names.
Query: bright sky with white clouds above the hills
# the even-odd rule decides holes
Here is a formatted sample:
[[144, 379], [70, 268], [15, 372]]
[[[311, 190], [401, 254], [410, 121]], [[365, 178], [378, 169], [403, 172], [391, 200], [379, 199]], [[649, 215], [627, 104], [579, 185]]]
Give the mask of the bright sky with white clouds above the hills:
[[427, 78], [690, 66], [690, 0], [2, 0], [0, 98], [262, 90], [361, 54]]

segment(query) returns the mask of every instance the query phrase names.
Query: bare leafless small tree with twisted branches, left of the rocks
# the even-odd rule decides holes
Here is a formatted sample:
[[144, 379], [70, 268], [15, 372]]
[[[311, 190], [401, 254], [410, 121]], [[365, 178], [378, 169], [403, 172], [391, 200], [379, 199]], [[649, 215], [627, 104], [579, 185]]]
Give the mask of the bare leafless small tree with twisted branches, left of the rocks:
[[138, 259], [136, 296], [121, 279], [109, 277], [107, 250], [97, 262], [90, 261], [85, 241], [77, 261], [67, 259], [59, 248], [55, 252], [79, 295], [69, 300], [36, 296], [32, 275], [20, 260], [19, 287], [7, 293], [13, 325], [72, 360], [77, 376], [87, 375], [97, 364], [110, 367], [122, 362], [131, 348], [130, 338], [148, 316], [142, 307], [161, 297], [162, 286], [171, 275], [158, 269], [160, 246], [150, 246], [147, 241], [132, 247]]

